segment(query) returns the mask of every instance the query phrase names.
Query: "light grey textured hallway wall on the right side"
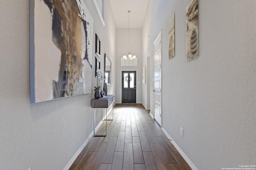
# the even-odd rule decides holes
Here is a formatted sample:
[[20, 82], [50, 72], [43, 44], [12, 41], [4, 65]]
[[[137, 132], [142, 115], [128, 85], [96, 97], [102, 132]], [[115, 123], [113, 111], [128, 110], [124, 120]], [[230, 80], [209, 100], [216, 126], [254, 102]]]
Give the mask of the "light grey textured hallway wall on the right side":
[[[162, 30], [162, 127], [198, 170], [255, 165], [256, 1], [199, 0], [199, 58], [187, 62], [189, 2], [149, 0], [142, 28], [142, 56], [151, 54], [151, 68]], [[175, 57], [169, 60], [174, 13]], [[152, 69], [150, 74], [152, 80]]]

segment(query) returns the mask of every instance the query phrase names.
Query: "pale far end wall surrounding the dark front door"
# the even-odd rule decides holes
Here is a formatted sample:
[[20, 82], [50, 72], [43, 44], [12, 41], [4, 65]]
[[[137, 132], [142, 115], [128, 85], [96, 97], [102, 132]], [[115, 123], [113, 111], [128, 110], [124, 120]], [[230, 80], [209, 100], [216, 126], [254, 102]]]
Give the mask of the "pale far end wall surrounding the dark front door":
[[[141, 29], [130, 28], [130, 52], [138, 59], [137, 66], [121, 66], [121, 57], [128, 55], [128, 29], [116, 29], [116, 102], [122, 102], [121, 70], [137, 70], [137, 103], [142, 103], [142, 38]], [[138, 84], [140, 82], [140, 84]]]

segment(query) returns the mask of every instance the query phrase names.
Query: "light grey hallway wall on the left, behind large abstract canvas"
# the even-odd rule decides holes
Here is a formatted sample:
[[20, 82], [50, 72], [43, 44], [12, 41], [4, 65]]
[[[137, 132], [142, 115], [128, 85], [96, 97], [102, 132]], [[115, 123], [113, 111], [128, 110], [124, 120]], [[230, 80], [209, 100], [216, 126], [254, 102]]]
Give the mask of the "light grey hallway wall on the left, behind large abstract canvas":
[[[94, 19], [95, 33], [115, 69], [116, 29], [109, 0], [105, 0], [105, 23], [92, 1], [84, 1]], [[30, 1], [0, 1], [0, 169], [61, 170], [93, 131], [92, 93], [30, 104], [29, 70]], [[102, 67], [103, 70], [103, 67]], [[115, 93], [115, 72], [109, 94]], [[99, 121], [100, 117], [98, 117]]]

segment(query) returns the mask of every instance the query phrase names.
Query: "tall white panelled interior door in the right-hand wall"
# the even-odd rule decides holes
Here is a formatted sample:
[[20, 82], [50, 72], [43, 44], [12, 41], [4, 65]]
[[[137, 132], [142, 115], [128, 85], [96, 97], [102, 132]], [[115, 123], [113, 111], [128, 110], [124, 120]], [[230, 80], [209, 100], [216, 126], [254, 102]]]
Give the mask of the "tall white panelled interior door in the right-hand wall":
[[154, 119], [162, 126], [162, 94], [161, 94], [161, 32], [154, 41]]

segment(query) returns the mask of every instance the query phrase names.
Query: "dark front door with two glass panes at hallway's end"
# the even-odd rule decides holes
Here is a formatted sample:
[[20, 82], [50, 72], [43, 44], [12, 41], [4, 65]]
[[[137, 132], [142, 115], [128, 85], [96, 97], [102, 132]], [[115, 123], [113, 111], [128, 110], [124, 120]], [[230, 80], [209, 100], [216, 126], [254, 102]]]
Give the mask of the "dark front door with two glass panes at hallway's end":
[[122, 71], [122, 103], [136, 103], [136, 71]]

